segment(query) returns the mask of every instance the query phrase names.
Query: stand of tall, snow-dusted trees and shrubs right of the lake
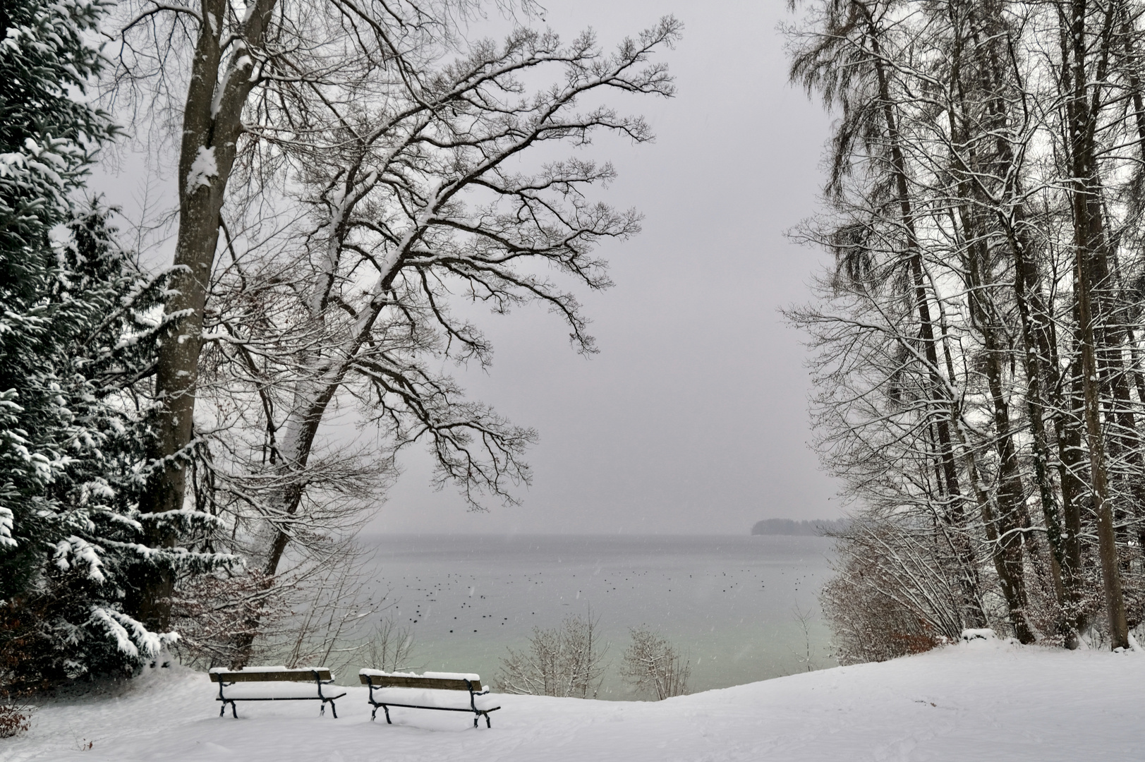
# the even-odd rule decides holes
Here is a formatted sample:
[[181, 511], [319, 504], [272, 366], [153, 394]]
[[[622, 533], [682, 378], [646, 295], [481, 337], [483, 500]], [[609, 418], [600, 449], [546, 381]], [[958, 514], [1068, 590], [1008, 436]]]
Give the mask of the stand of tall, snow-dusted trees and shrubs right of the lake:
[[1145, 614], [1145, 5], [816, 0], [834, 264], [788, 311], [856, 520], [854, 659], [993, 627], [1130, 645]]

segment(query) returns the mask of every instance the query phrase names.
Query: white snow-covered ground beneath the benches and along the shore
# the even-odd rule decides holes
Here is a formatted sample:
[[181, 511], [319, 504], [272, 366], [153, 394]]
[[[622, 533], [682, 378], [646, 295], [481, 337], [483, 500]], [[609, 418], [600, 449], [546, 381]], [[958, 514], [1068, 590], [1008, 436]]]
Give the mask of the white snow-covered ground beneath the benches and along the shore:
[[[207, 676], [155, 669], [126, 688], [45, 704], [0, 760], [618, 762], [1145, 759], [1145, 654], [977, 641], [662, 702], [505, 696], [492, 730], [464, 714], [338, 701], [219, 706]], [[379, 713], [380, 715], [380, 713]]]

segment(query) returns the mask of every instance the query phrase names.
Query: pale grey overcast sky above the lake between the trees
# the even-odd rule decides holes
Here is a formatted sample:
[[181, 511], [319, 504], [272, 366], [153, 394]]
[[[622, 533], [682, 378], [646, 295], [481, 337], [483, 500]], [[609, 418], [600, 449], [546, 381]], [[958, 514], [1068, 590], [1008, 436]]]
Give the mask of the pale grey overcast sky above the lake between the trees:
[[534, 484], [516, 508], [467, 513], [411, 453], [374, 528], [387, 532], [733, 533], [761, 518], [831, 518], [835, 484], [810, 439], [799, 335], [777, 307], [806, 298], [822, 254], [783, 230], [810, 217], [828, 117], [787, 85], [785, 2], [550, 0], [545, 21], [611, 45], [674, 14], [670, 101], [617, 102], [657, 140], [598, 141], [621, 176], [608, 201], [643, 233], [607, 245], [616, 286], [584, 294], [600, 354], [585, 360], [540, 308], [483, 316], [488, 375], [472, 396], [536, 427]]

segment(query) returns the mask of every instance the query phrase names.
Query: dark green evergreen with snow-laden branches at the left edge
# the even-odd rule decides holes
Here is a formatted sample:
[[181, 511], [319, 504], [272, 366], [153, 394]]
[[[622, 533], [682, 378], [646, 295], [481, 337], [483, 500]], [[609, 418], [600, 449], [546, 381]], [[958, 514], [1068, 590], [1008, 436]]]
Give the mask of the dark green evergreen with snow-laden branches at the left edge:
[[[0, 7], [0, 677], [131, 671], [173, 634], [133, 615], [141, 580], [212, 556], [149, 548], [135, 495], [164, 278], [73, 209], [111, 138], [82, 102], [98, 0]], [[204, 517], [151, 516], [177, 536]]]

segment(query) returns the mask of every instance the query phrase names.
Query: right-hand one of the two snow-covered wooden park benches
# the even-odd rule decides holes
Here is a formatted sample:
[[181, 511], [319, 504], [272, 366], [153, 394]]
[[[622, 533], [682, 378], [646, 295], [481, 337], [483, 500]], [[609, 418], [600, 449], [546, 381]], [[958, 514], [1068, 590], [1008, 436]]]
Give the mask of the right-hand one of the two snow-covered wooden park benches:
[[[485, 728], [492, 728], [489, 722], [489, 713], [499, 709], [499, 706], [490, 706], [493, 701], [489, 696], [489, 689], [481, 686], [481, 678], [477, 675], [464, 673], [437, 673], [427, 671], [424, 675], [412, 673], [386, 673], [378, 669], [362, 669], [358, 677], [363, 685], [370, 686], [370, 705], [373, 712], [370, 718], [378, 716], [378, 707], [386, 713], [386, 722], [389, 724], [389, 707], [408, 707], [410, 709], [441, 709], [443, 712], [472, 712], [473, 726], [477, 726], [477, 718], [484, 715]], [[465, 696], [460, 691], [468, 693], [468, 706], [465, 706]]]

